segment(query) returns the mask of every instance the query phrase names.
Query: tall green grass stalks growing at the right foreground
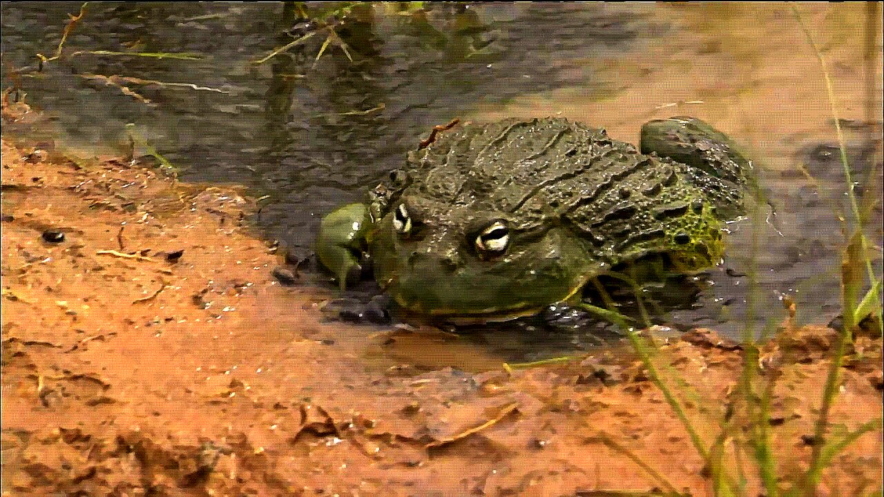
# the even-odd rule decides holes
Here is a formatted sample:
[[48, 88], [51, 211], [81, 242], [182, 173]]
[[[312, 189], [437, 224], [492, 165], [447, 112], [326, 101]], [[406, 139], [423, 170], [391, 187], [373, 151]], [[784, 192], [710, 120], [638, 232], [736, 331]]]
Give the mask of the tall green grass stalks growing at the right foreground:
[[[840, 162], [844, 173], [844, 183], [850, 200], [850, 213], [841, 217], [843, 232], [845, 233], [841, 264], [842, 326], [838, 330], [834, 344], [831, 347], [826, 381], [819, 398], [819, 412], [813, 424], [812, 454], [806, 470], [792, 477], [785, 477], [778, 470], [778, 455], [775, 453], [771, 434], [771, 402], [773, 399], [773, 388], [776, 385], [777, 378], [780, 376], [780, 371], [777, 371], [775, 364], [765, 362], [765, 358], [761, 354], [761, 342], [758, 341], [757, 335], [751, 326], [753, 321], [751, 316], [747, 318], [747, 324], [743, 333], [743, 372], [738, 384], [738, 405], [727, 409], [724, 419], [719, 420], [720, 432], [714, 437], [714, 440], [707, 441], [703, 440], [694, 422], [687, 415], [685, 403], [679, 400], [678, 394], [680, 392], [669, 386], [673, 375], [676, 382], [682, 385], [686, 383], [683, 380], [679, 381], [680, 378], [677, 378], [677, 373], [674, 373], [674, 371], [666, 371], [665, 367], [658, 367], [655, 362], [658, 349], [653, 341], [637, 333], [636, 329], [628, 323], [628, 317], [621, 315], [615, 310], [613, 302], [610, 302], [606, 295], [603, 294], [607, 304], [607, 309], [603, 310], [604, 312], [598, 312], [598, 308], [591, 309], [595, 314], [606, 317], [613, 324], [621, 327], [623, 332], [626, 333], [636, 354], [644, 363], [648, 377], [663, 394], [675, 416], [678, 417], [685, 431], [690, 436], [690, 441], [697, 454], [705, 462], [706, 476], [711, 482], [712, 493], [716, 496], [750, 495], [750, 473], [746, 471], [745, 467], [747, 463], [746, 455], [748, 455], [755, 468], [754, 478], [757, 478], [758, 486], [763, 490], [761, 494], [766, 497], [813, 497], [819, 491], [824, 471], [832, 464], [836, 455], [840, 454], [845, 447], [850, 446], [852, 442], [865, 433], [882, 429], [881, 417], [875, 417], [860, 424], [853, 431], [830, 433], [830, 413], [839, 393], [842, 366], [846, 360], [848, 346], [853, 340], [853, 333], [857, 330], [857, 326], [863, 319], [879, 317], [874, 325], [879, 328], [880, 336], [882, 277], [880, 275], [876, 277], [874, 274], [873, 260], [872, 256], [870, 256], [872, 243], [864, 232], [864, 226], [868, 224], [867, 218], [871, 208], [869, 206], [861, 208], [857, 202], [857, 195], [854, 191], [856, 184], [850, 171], [841, 120], [835, 103], [832, 79], [827, 69], [826, 59], [819, 46], [814, 42], [811, 31], [805, 25], [801, 12], [795, 5], [790, 5], [790, 8], [798, 26], [804, 32], [808, 44], [812, 47], [819, 60], [819, 66], [826, 82], [827, 96], [834, 120], [834, 131], [840, 149]], [[870, 7], [870, 9], [872, 8]], [[877, 20], [877, 15], [869, 15], [867, 19], [873, 19], [869, 22], [867, 29], [876, 29], [874, 23]], [[874, 44], [867, 42], [866, 47], [870, 46], [873, 47]], [[871, 57], [865, 58], [867, 60], [871, 59]], [[869, 80], [866, 79], [866, 81]], [[873, 99], [867, 100], [868, 104], [873, 104]], [[866, 114], [874, 115], [873, 112], [868, 111]], [[870, 174], [867, 181], [870, 182], [871, 186], [871, 182], [875, 181], [874, 174]], [[874, 199], [869, 197], [873, 197], [873, 195], [865, 195], [869, 202], [874, 202]], [[757, 202], [755, 204], [763, 203]], [[759, 226], [761, 223], [759, 215], [759, 209], [756, 207], [751, 212], [753, 226]], [[758, 253], [757, 228], [753, 229], [751, 243], [752, 253]], [[748, 277], [751, 285], [756, 287], [750, 291], [751, 301], [747, 302], [750, 313], [758, 303], [752, 302], [757, 300], [758, 295], [757, 268], [754, 267], [755, 257], [752, 257], [751, 265]], [[868, 286], [869, 289], [861, 296], [861, 289], [865, 286]], [[637, 291], [637, 288], [636, 300], [641, 306], [640, 292]], [[794, 303], [789, 302], [788, 299], [784, 303], [787, 309], [789, 309], [790, 319], [794, 320]], [[650, 326], [651, 323], [647, 320], [644, 308], [642, 308], [642, 311], [645, 324]], [[767, 334], [766, 330], [761, 336], [766, 337]], [[744, 424], [746, 424], [742, 443], [740, 440], [741, 431], [735, 421], [737, 414], [742, 415]], [[728, 455], [728, 447], [730, 448], [730, 455]], [[780, 456], [785, 457], [785, 455]], [[643, 461], [636, 461], [636, 455], [631, 455], [630, 459], [651, 475], [659, 486], [674, 493], [672, 484], [660, 475], [659, 472], [653, 470]], [[873, 491], [870, 495], [881, 495], [881, 490]]]

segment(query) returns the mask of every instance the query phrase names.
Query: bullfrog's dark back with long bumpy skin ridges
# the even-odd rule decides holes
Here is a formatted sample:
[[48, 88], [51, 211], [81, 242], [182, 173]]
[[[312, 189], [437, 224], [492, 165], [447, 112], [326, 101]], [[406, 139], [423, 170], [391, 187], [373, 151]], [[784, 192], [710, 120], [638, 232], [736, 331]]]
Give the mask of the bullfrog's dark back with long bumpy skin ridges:
[[566, 223], [612, 264], [693, 244], [715, 203], [739, 191], [696, 168], [643, 155], [567, 119], [505, 119], [443, 134], [413, 155], [410, 188], [435, 202], [500, 212], [522, 231]]

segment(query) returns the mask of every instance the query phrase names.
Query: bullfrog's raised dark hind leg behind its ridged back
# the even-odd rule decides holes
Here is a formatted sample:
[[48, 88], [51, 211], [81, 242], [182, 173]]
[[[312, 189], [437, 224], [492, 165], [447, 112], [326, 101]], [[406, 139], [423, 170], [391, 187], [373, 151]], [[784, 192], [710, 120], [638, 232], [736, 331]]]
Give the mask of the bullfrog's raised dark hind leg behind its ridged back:
[[643, 154], [657, 152], [735, 186], [742, 185], [752, 169], [727, 134], [696, 118], [676, 116], [644, 123], [639, 148]]

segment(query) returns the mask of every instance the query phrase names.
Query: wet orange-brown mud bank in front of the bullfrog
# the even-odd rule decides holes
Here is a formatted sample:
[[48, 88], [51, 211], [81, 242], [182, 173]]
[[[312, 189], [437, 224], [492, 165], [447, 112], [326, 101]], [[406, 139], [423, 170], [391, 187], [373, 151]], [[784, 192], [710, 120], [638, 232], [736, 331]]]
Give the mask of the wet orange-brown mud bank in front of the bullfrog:
[[[35, 119], [24, 111], [4, 119]], [[9, 138], [4, 494], [659, 488], [630, 455], [680, 491], [709, 492], [687, 432], [628, 350], [505, 371], [492, 354], [459, 363], [461, 339], [429, 328], [324, 323], [333, 288], [271, 276], [283, 257], [243, 222], [255, 203], [236, 189]], [[825, 326], [787, 323], [763, 349], [759, 373], [779, 375], [771, 430], [782, 478], [810, 458], [833, 340]], [[742, 348], [705, 330], [658, 341], [656, 361], [690, 386], [677, 391], [689, 393], [706, 444], [728, 409], [744, 424]], [[415, 343], [420, 356], [408, 354]], [[880, 337], [851, 344], [832, 432], [880, 417], [880, 350]], [[880, 488], [880, 436], [838, 455], [820, 494]]]

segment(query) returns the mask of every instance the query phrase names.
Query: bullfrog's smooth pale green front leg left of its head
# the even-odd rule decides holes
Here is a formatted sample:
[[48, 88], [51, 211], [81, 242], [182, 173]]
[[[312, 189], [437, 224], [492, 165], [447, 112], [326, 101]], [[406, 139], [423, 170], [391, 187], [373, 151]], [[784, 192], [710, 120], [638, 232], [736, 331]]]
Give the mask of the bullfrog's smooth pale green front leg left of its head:
[[350, 203], [326, 215], [316, 237], [319, 262], [338, 278], [341, 291], [347, 278], [362, 271], [359, 252], [370, 225], [369, 210], [363, 203]]

